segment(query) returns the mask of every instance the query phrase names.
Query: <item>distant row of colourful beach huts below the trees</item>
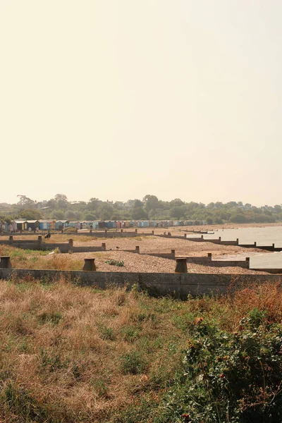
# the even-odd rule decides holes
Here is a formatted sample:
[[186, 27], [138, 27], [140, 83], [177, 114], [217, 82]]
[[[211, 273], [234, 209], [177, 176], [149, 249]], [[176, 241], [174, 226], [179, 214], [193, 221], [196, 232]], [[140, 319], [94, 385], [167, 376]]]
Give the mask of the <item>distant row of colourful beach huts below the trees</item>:
[[11, 223], [0, 221], [0, 232], [18, 231], [62, 231], [66, 228], [75, 229], [112, 229], [112, 228], [168, 228], [169, 226], [205, 225], [206, 221], [68, 221], [68, 220], [25, 220], [17, 219]]

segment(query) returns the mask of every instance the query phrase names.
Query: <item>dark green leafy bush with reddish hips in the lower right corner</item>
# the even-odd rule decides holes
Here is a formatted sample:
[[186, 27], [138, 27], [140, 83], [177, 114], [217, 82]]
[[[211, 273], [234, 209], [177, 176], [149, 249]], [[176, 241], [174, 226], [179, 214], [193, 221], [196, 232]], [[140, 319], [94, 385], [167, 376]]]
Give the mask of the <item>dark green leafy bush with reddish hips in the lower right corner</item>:
[[253, 309], [234, 333], [202, 318], [190, 332], [185, 374], [173, 386], [168, 414], [191, 423], [281, 422], [281, 324]]

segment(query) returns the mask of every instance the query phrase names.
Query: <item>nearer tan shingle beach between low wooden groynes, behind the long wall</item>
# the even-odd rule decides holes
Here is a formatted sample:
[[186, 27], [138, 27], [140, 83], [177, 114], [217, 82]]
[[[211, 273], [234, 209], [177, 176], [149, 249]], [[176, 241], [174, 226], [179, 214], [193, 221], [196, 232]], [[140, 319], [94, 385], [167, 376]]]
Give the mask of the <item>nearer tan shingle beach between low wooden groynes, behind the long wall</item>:
[[[103, 240], [104, 242], [104, 240]], [[101, 245], [101, 240], [91, 240], [87, 245]], [[86, 245], [86, 243], [75, 242], [75, 245]], [[176, 240], [169, 238], [144, 237], [135, 238], [118, 238], [106, 240], [105, 252], [84, 252], [72, 253], [71, 255], [63, 255], [71, 260], [80, 260], [83, 262], [85, 258], [95, 258], [95, 264], [98, 271], [136, 271], [136, 272], [159, 272], [173, 273], [176, 262], [173, 259], [164, 259], [161, 257], [152, 257], [149, 255], [138, 255], [133, 252], [125, 252], [121, 250], [135, 250], [135, 246], [139, 245], [140, 252], [171, 252], [176, 250], [176, 256], [193, 255], [207, 256], [207, 252], [212, 252], [214, 258], [224, 257], [224, 255], [245, 255], [250, 257], [251, 253], [257, 254], [257, 250], [244, 249], [235, 246], [222, 246], [213, 243], [193, 243], [192, 241]], [[116, 250], [116, 247], [120, 250]], [[42, 257], [44, 260], [51, 259], [51, 255]], [[114, 259], [123, 261], [124, 266], [112, 266], [106, 263], [106, 260]], [[200, 264], [189, 264], [189, 273], [211, 273], [211, 274], [257, 274], [256, 271], [242, 269], [241, 267], [215, 267], [202, 266]]]

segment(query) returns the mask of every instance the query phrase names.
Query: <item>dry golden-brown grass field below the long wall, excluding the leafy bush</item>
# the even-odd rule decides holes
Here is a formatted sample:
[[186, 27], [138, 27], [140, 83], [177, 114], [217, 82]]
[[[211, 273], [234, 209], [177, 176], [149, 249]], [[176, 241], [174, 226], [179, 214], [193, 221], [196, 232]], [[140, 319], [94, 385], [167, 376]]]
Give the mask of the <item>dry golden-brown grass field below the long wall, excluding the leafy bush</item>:
[[254, 307], [274, 324], [282, 317], [281, 290], [270, 284], [186, 302], [64, 279], [0, 285], [0, 421], [9, 423], [188, 422], [167, 398], [183, 378], [192, 328], [204, 321], [235, 333]]

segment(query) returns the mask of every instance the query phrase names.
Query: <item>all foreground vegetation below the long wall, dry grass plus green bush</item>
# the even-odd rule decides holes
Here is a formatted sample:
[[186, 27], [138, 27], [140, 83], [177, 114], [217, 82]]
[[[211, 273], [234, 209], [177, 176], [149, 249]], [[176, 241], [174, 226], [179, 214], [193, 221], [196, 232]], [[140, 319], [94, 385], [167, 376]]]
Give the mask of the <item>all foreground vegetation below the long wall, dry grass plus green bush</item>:
[[0, 288], [0, 421], [282, 421], [279, 285], [186, 301], [63, 277]]

